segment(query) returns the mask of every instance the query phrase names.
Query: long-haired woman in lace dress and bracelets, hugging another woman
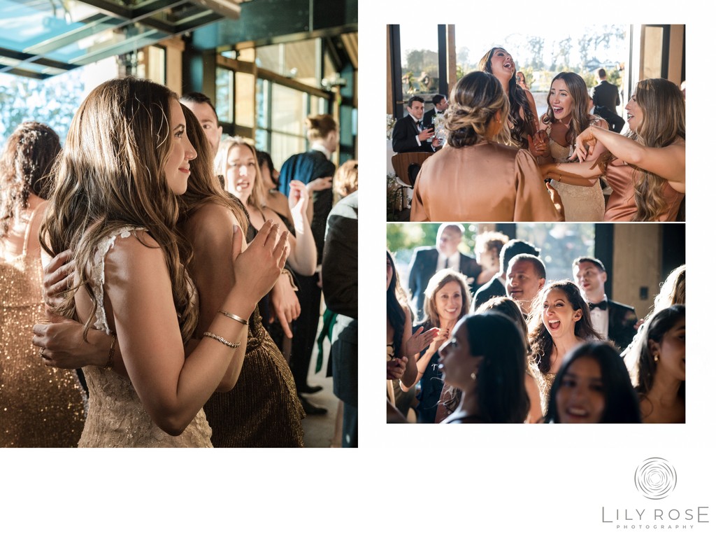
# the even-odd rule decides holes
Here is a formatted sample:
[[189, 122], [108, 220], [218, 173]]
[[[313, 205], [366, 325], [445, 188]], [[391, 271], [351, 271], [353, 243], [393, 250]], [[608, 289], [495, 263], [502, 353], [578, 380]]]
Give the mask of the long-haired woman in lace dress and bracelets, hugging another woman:
[[226, 229], [218, 242], [231, 244], [226, 264], [233, 259], [242, 284], [226, 289], [213, 315], [197, 310], [183, 265], [190, 249], [175, 232], [177, 196], [197, 156], [185, 129], [177, 95], [132, 77], [92, 90], [70, 126], [41, 236], [49, 254], [71, 248], [79, 267], [58, 312], [112, 336], [107, 366], [83, 369], [89, 410], [79, 446], [211, 446], [203, 405], [236, 384], [244, 319], [285, 262], [276, 226], [244, 249], [238, 226], [209, 221], [205, 229]]

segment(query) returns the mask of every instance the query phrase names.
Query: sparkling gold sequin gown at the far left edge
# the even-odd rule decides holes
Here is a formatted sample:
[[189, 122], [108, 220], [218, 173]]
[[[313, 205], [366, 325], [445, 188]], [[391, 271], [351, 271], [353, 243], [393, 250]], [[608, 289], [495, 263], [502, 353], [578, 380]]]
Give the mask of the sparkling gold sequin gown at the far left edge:
[[49, 368], [32, 345], [32, 326], [44, 316], [37, 230], [44, 204], [24, 214], [10, 234], [22, 252], [0, 239], [0, 446], [77, 446], [84, 396], [74, 370]]

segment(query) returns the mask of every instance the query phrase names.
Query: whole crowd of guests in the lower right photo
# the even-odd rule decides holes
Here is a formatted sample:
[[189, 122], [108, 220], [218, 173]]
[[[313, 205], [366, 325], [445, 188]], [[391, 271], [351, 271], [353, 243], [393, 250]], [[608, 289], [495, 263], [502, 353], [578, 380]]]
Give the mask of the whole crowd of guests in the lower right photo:
[[[415, 249], [407, 289], [387, 252], [389, 422], [685, 422], [685, 265], [639, 320], [606, 296], [599, 259], [553, 280], [533, 244], [485, 233], [478, 264], [463, 231]], [[493, 275], [473, 291], [482, 259]]]

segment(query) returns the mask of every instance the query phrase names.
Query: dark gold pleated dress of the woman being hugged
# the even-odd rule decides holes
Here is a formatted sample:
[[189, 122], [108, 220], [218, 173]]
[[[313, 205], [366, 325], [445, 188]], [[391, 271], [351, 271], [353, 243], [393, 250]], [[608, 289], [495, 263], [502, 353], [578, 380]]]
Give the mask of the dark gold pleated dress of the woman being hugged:
[[248, 322], [246, 357], [236, 386], [204, 405], [216, 447], [304, 446], [306, 416], [289, 364], [261, 324]]

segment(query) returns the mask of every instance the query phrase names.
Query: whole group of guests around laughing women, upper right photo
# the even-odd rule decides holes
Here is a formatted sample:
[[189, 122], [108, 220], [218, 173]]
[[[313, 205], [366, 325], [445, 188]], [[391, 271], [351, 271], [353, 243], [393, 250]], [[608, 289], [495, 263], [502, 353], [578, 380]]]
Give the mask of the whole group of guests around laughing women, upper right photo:
[[685, 105], [677, 85], [638, 82], [622, 134], [618, 90], [604, 70], [592, 95], [580, 75], [558, 73], [541, 117], [518, 74], [511, 54], [495, 47], [444, 106], [435, 100], [445, 95], [435, 95], [444, 146], [423, 120], [422, 97], [407, 101], [393, 150], [432, 154], [417, 173], [411, 221], [684, 219]]

